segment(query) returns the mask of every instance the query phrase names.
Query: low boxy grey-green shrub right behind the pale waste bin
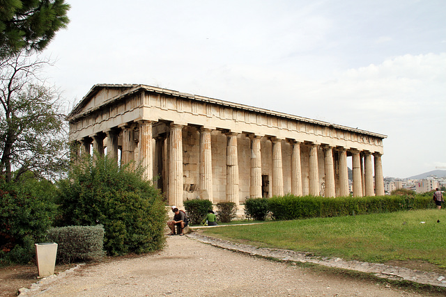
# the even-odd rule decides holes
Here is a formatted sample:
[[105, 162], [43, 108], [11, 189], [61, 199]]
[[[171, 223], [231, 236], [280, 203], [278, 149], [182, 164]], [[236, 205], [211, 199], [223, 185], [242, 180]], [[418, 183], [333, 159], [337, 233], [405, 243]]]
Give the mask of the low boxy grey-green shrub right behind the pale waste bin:
[[48, 230], [48, 242], [57, 243], [57, 262], [98, 261], [104, 257], [104, 226], [68, 226]]

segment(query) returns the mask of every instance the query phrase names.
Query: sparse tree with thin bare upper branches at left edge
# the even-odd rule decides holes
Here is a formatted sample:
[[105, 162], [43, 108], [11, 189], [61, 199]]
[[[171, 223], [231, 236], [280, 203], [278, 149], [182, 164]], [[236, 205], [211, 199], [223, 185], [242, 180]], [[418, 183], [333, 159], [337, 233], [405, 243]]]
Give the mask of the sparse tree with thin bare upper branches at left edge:
[[26, 171], [51, 178], [66, 168], [66, 115], [57, 90], [40, 79], [45, 65], [24, 51], [0, 61], [0, 170], [6, 182]]

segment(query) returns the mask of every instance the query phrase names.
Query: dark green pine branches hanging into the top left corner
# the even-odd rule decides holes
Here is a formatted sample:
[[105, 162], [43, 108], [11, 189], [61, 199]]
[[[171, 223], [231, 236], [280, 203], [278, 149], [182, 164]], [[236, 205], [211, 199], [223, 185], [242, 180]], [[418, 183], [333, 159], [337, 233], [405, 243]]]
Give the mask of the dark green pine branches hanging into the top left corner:
[[66, 28], [70, 5], [65, 0], [2, 0], [0, 57], [44, 49], [56, 31]]

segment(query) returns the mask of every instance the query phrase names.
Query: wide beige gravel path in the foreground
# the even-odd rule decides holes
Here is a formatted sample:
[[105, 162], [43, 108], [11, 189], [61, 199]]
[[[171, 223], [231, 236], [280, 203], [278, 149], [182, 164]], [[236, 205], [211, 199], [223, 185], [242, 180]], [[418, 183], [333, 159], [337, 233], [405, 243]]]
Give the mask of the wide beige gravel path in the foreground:
[[426, 296], [169, 236], [155, 255], [85, 266], [20, 296]]

